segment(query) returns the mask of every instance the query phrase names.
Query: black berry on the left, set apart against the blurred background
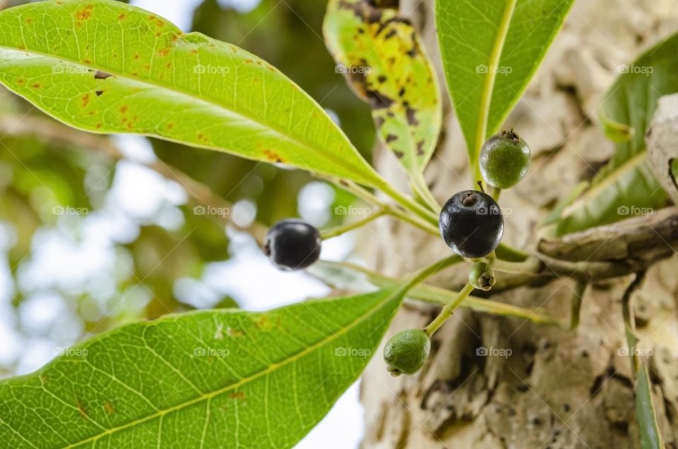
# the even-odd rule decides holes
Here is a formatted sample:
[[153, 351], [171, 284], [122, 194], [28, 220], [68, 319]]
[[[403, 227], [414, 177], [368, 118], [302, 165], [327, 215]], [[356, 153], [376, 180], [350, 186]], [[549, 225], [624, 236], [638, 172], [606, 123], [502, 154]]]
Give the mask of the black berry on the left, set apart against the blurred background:
[[321, 241], [320, 232], [311, 224], [283, 220], [268, 229], [263, 253], [280, 270], [300, 270], [318, 260]]

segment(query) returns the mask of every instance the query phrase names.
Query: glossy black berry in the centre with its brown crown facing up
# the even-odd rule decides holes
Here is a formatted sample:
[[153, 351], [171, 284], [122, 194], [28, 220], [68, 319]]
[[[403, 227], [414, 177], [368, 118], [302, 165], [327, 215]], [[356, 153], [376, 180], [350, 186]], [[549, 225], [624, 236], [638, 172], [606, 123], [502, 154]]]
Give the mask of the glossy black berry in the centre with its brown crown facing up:
[[504, 217], [487, 193], [467, 190], [455, 193], [440, 212], [440, 234], [445, 243], [465, 258], [492, 253], [504, 234]]

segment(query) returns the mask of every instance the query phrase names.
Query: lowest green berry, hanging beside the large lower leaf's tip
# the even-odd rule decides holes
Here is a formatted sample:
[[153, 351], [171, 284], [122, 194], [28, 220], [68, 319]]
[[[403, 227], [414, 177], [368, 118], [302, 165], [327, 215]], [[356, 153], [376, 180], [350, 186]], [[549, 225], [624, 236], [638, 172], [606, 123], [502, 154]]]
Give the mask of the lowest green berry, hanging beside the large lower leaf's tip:
[[430, 351], [429, 336], [421, 329], [408, 329], [386, 342], [383, 360], [392, 376], [414, 374], [424, 366]]

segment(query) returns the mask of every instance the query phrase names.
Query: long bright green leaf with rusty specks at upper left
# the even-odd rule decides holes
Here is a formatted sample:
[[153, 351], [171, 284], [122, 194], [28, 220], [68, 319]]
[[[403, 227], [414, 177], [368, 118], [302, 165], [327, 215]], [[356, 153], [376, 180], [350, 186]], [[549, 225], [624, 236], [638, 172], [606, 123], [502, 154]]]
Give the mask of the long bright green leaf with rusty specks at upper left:
[[87, 131], [384, 182], [322, 107], [266, 61], [118, 1], [1, 11], [0, 83]]

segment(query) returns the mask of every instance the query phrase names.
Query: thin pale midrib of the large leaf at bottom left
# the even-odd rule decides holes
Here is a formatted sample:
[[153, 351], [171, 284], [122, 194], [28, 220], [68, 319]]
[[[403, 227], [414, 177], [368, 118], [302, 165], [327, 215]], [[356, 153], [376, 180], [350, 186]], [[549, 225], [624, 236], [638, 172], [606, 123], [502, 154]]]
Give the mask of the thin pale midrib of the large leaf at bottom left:
[[[320, 340], [319, 342], [314, 343], [314, 345], [310, 345], [310, 346], [306, 347], [302, 351], [297, 352], [297, 354], [294, 354], [291, 357], [288, 357], [287, 359], [285, 359], [281, 362], [270, 364], [266, 367], [266, 369], [262, 369], [261, 371], [257, 371], [254, 374], [246, 376], [245, 378], [240, 379], [236, 383], [232, 383], [232, 384], [227, 385], [225, 387], [219, 388], [218, 390], [214, 390], [213, 392], [210, 392], [210, 393], [204, 393], [204, 394], [199, 395], [198, 397], [196, 397], [192, 400], [181, 402], [177, 405], [173, 405], [172, 407], [167, 407], [166, 409], [160, 409], [157, 412], [153, 412], [152, 414], [148, 414], [146, 417], [143, 417], [141, 419], [136, 419], [135, 421], [131, 421], [127, 424], [122, 424], [120, 426], [112, 427], [111, 429], [107, 429], [106, 431], [103, 431], [103, 432], [97, 433], [96, 435], [85, 438], [83, 441], [78, 441], [76, 443], [71, 443], [70, 445], [64, 446], [63, 449], [76, 448], [76, 447], [83, 445], [85, 443], [97, 441], [99, 438], [102, 438], [103, 436], [112, 435], [113, 433], [116, 433], [117, 431], [129, 429], [129, 427], [136, 426], [138, 424], [143, 424], [144, 422], [151, 421], [151, 420], [159, 418], [159, 417], [163, 417], [166, 414], [176, 412], [177, 410], [183, 409], [184, 407], [190, 407], [191, 405], [198, 404], [200, 402], [203, 402], [204, 400], [210, 400], [213, 397], [227, 393], [228, 391], [239, 388], [242, 385], [246, 385], [247, 383], [254, 381], [257, 378], [260, 378], [261, 376], [265, 376], [265, 375], [275, 371], [276, 369], [278, 369], [280, 367], [287, 366], [288, 364], [291, 364], [291, 363], [293, 363], [293, 362], [295, 362], [299, 359], [302, 359], [302, 357], [306, 356], [307, 354], [310, 354], [311, 352], [314, 352], [314, 350], [325, 346], [328, 342], [331, 342], [333, 340], [337, 340], [338, 337], [340, 337], [341, 335], [344, 335], [345, 333], [350, 332], [350, 330], [354, 329], [357, 325], [359, 325], [363, 321], [367, 320], [367, 318], [370, 318], [371, 316], [373, 316], [374, 313], [376, 313], [377, 310], [381, 309], [385, 304], [388, 304], [389, 301], [392, 301], [405, 288], [407, 288], [407, 287], [401, 285], [397, 289], [394, 289], [394, 291], [391, 294], [388, 294], [382, 301], [377, 302], [373, 307], [368, 309], [368, 311], [366, 313], [364, 313], [362, 316], [357, 318], [352, 323], [345, 325], [343, 328], [340, 328], [340, 330], [333, 333], [332, 335], [329, 335], [328, 337], [323, 338], [323, 340]], [[152, 323], [150, 323], [150, 324], [152, 324]]]

